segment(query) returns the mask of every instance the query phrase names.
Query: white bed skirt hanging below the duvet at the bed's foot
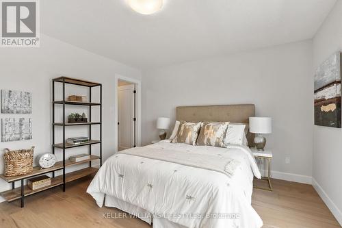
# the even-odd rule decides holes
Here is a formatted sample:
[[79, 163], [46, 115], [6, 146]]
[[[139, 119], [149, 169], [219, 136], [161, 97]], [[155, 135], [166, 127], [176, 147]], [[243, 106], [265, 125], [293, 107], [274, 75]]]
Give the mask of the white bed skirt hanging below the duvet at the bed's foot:
[[152, 213], [142, 209], [141, 207], [137, 207], [131, 203], [127, 203], [107, 194], [105, 195], [105, 206], [116, 207], [123, 212], [136, 216], [150, 225], [153, 224], [153, 228], [187, 228], [182, 225], [172, 223], [166, 218], [153, 218]]

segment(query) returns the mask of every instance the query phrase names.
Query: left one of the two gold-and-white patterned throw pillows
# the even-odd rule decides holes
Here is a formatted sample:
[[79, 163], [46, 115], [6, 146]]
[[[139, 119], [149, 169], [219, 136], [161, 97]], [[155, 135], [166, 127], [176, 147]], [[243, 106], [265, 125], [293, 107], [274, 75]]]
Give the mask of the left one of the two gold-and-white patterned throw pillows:
[[181, 123], [179, 124], [179, 129], [176, 134], [176, 137], [174, 137], [174, 139], [171, 142], [196, 145], [198, 132], [200, 131], [200, 125], [201, 122], [187, 123], [185, 121], [181, 121]]

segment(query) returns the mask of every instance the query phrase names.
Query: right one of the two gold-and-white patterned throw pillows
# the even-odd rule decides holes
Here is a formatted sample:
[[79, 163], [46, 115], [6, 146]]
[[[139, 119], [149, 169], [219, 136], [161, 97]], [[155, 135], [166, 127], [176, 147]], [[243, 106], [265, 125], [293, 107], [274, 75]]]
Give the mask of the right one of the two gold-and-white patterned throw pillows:
[[224, 147], [229, 122], [205, 122], [197, 139], [198, 146]]

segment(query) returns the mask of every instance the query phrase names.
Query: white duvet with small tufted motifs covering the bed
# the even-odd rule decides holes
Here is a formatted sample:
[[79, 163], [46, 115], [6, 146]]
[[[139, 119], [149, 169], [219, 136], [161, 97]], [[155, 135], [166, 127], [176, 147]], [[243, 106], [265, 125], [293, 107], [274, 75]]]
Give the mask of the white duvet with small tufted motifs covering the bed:
[[[117, 153], [103, 164], [87, 192], [99, 207], [105, 195], [127, 202], [183, 227], [259, 228], [263, 222], [251, 206], [253, 174], [261, 174], [248, 147], [173, 144], [144, 147], [230, 158], [233, 175], [137, 155]], [[139, 148], [136, 148], [139, 150]]]

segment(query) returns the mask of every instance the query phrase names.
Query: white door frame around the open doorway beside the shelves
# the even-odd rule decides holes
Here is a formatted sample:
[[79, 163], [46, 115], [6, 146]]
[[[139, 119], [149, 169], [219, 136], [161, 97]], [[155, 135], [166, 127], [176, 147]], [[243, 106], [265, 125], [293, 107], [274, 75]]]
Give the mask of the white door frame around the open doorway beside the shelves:
[[118, 81], [128, 81], [135, 84], [135, 90], [137, 93], [135, 94], [135, 117], [136, 121], [136, 146], [140, 147], [142, 144], [142, 81], [138, 79], [133, 79], [131, 77], [125, 77], [119, 74], [115, 75], [114, 80], [114, 94], [115, 94], [115, 103], [114, 103], [114, 143], [115, 149], [118, 151]]

